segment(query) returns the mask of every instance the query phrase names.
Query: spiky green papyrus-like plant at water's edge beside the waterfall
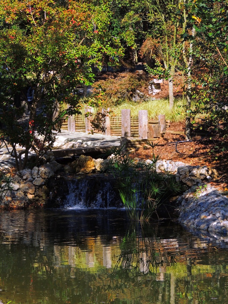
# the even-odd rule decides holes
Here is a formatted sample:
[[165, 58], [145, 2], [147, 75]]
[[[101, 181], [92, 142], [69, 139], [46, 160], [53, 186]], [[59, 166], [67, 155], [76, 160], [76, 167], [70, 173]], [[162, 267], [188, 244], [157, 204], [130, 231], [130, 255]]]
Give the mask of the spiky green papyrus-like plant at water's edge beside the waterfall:
[[133, 221], [149, 221], [165, 200], [182, 190], [174, 175], [156, 172], [159, 159], [154, 155], [156, 144], [148, 144], [153, 148], [150, 164], [135, 162], [128, 152], [124, 152], [124, 146], [113, 149], [110, 159], [110, 170], [118, 180], [121, 200]]

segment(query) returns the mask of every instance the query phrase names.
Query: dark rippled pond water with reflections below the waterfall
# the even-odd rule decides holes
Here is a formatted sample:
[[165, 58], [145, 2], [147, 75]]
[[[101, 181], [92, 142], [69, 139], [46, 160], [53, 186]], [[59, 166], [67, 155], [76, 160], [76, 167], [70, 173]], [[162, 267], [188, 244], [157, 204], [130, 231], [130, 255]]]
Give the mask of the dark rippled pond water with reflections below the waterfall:
[[0, 299], [12, 303], [227, 303], [228, 238], [123, 210], [0, 213]]

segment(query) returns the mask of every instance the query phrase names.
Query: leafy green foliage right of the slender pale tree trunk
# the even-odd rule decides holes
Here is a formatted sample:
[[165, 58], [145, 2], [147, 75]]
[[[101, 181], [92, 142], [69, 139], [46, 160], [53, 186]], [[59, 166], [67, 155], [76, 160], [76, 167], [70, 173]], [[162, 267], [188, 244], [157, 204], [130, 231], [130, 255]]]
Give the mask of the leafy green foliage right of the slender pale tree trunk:
[[[196, 1], [192, 4], [188, 19], [194, 20], [196, 31], [194, 57], [197, 64], [192, 68], [196, 100], [193, 117], [204, 116], [198, 125], [211, 133], [227, 138], [227, 3], [221, 1]], [[222, 149], [224, 148], [222, 145]], [[227, 147], [225, 147], [227, 149]]]

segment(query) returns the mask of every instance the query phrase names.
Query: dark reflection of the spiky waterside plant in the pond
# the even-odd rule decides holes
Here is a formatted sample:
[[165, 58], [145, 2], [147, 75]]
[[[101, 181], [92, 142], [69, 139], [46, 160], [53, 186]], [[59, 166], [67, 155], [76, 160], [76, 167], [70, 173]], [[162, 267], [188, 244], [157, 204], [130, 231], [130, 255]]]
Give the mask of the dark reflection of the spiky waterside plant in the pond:
[[[149, 224], [130, 226], [122, 243], [121, 253], [111, 274], [109, 288], [124, 292], [128, 284], [145, 281], [150, 285], [156, 281], [157, 268], [174, 263], [173, 256], [163, 256], [158, 250], [157, 227]], [[149, 283], [150, 282], [150, 283]]]

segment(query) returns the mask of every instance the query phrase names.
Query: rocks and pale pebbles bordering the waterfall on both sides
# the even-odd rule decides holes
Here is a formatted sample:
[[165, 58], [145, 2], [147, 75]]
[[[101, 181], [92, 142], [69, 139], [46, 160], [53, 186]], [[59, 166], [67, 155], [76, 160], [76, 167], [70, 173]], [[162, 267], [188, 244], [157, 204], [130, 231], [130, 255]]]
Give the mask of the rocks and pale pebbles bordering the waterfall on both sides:
[[[12, 179], [13, 190], [6, 193], [5, 200], [2, 205], [9, 208], [43, 206], [47, 203], [48, 196], [50, 196], [50, 178], [55, 178], [56, 175], [54, 176], [54, 174], [57, 171], [62, 171], [63, 174], [65, 172], [66, 175], [73, 172], [76, 174], [84, 173], [85, 175], [86, 173], [100, 174], [109, 167], [108, 159], [93, 160], [91, 157], [85, 157], [84, 155], [71, 164], [62, 166], [54, 160], [52, 152], [47, 155], [46, 162], [47, 164], [43, 164], [39, 168], [34, 167], [33, 170], [26, 169], [17, 172], [15, 177]], [[153, 161], [150, 159], [141, 160], [139, 158], [134, 158], [133, 162], [145, 162], [150, 165], [153, 164]], [[179, 221], [181, 223], [197, 229], [213, 230], [223, 233], [228, 231], [228, 229], [224, 229], [224, 227], [226, 227], [226, 221], [228, 221], [228, 217], [226, 216], [226, 211], [228, 215], [228, 210], [226, 210], [226, 205], [223, 205], [225, 204], [224, 202], [227, 202], [228, 198], [222, 196], [221, 193], [214, 188], [213, 190], [210, 190], [212, 188], [209, 184], [207, 188], [201, 187], [203, 185], [202, 183], [208, 183], [212, 179], [217, 179], [218, 176], [216, 170], [207, 168], [206, 166], [189, 166], [182, 162], [159, 160], [156, 163], [156, 171], [157, 173], [169, 172], [171, 174], [176, 174], [177, 180], [186, 185], [187, 188], [194, 186], [178, 199], [178, 203], [181, 205], [179, 217]], [[61, 180], [60, 176], [57, 177]], [[201, 192], [203, 201], [201, 201]], [[211, 195], [214, 195], [212, 197], [212, 201], [210, 201]], [[202, 210], [200, 210], [199, 207], [201, 207]], [[215, 208], [221, 210], [221, 212], [219, 211], [221, 216], [217, 214], [219, 212], [213, 214], [213, 212], [217, 210]], [[205, 215], [204, 212], [208, 212], [209, 215]], [[203, 217], [204, 215], [206, 217]], [[202, 223], [203, 219], [205, 219], [204, 222], [207, 224], [204, 222]], [[220, 221], [220, 227], [218, 221]]]

